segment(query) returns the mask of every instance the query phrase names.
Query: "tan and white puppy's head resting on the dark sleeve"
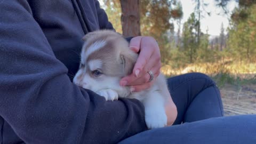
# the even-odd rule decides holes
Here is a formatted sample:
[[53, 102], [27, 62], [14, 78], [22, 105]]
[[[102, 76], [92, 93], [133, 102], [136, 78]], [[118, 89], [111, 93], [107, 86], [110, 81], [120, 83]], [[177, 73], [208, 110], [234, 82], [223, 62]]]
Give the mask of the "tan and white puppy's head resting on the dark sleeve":
[[120, 89], [119, 80], [132, 73], [138, 55], [114, 31], [94, 31], [83, 40], [81, 63], [73, 82], [92, 91]]

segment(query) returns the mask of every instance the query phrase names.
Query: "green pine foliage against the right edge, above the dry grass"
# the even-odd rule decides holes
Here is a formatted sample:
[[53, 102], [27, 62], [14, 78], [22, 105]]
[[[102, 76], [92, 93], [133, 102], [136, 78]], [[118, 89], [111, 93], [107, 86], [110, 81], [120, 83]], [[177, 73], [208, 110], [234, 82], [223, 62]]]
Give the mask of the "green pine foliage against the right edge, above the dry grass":
[[231, 17], [230, 28], [228, 29], [227, 51], [239, 61], [255, 62], [256, 60], [255, 18], [256, 4], [246, 8], [240, 7], [239, 9], [235, 9]]

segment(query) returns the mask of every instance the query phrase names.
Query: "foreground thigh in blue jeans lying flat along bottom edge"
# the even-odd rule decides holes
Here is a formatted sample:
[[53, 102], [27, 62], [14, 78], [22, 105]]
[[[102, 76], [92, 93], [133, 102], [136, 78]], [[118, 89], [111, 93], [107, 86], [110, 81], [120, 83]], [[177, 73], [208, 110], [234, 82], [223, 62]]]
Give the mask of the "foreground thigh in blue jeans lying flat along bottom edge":
[[127, 138], [126, 143], [256, 143], [256, 115], [210, 118], [148, 130]]

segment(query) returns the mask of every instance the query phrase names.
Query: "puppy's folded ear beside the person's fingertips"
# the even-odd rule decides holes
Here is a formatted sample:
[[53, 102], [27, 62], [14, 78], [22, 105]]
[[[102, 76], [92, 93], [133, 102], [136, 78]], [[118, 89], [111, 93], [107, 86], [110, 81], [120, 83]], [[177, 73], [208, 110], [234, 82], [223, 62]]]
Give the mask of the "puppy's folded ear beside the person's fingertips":
[[130, 54], [121, 54], [120, 58], [123, 65], [124, 76], [130, 75], [132, 73], [137, 58], [135, 58], [134, 55]]

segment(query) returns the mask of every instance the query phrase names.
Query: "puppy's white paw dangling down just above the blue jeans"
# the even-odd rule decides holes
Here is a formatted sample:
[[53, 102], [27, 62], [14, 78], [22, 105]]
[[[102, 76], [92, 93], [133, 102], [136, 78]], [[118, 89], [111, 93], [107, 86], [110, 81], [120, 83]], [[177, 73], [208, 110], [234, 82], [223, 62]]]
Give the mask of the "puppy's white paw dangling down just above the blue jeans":
[[167, 116], [165, 111], [145, 111], [145, 122], [148, 129], [155, 129], [167, 125]]

